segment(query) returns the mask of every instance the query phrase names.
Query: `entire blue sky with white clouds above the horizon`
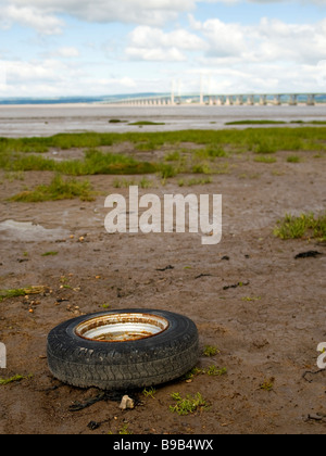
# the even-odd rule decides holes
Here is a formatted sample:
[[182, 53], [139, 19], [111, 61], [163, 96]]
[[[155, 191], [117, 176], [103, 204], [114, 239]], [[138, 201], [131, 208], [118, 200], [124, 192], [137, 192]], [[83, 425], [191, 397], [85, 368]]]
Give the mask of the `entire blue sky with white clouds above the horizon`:
[[0, 0], [0, 97], [173, 84], [326, 92], [326, 0]]

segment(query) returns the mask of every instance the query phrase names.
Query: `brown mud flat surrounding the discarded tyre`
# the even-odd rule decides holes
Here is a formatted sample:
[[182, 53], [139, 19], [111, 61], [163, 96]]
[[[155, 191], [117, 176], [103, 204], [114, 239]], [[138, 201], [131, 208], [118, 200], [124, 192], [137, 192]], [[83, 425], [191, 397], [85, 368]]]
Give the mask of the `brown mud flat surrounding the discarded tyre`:
[[[302, 152], [302, 162], [290, 164], [286, 153], [276, 156], [275, 164], [228, 159], [229, 174], [213, 176], [212, 185], [180, 189], [172, 179], [141, 190], [222, 193], [223, 240], [210, 248], [201, 245], [201, 235], [108, 235], [104, 198], [128, 193], [113, 188], [114, 177], [91, 177], [102, 192], [95, 202], [24, 204], [5, 200], [48, 182], [51, 174], [26, 173], [23, 181], [1, 174], [0, 223], [34, 225], [1, 225], [0, 289], [51, 290], [0, 303], [0, 340], [8, 350], [0, 377], [26, 377], [0, 385], [1, 434], [326, 433], [326, 371], [311, 373], [318, 371], [317, 345], [326, 341], [326, 248], [273, 236], [286, 213], [325, 207], [325, 159]], [[309, 250], [323, 255], [294, 259]], [[42, 256], [47, 252], [58, 254]], [[173, 268], [158, 270], [166, 266]], [[228, 288], [237, 283], [243, 286]], [[137, 400], [133, 410], [118, 408], [123, 394], [74, 410], [99, 391], [71, 388], [51, 376], [47, 335], [60, 322], [103, 306], [187, 315], [198, 326], [201, 352], [205, 345], [220, 351], [211, 358], [202, 354], [198, 367], [215, 365], [227, 373], [160, 385], [154, 398], [128, 392]], [[173, 414], [176, 392], [200, 392], [210, 407]]]

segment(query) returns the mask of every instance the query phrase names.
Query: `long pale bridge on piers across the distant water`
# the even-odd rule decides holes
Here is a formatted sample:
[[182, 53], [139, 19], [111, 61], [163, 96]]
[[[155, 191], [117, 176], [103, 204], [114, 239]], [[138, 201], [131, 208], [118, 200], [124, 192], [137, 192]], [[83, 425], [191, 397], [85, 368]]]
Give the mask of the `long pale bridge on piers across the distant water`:
[[172, 106], [180, 104], [196, 105], [267, 105], [288, 104], [315, 105], [317, 102], [326, 102], [326, 93], [274, 93], [274, 94], [158, 94], [154, 97], [125, 98], [110, 101], [110, 104], [126, 106]]

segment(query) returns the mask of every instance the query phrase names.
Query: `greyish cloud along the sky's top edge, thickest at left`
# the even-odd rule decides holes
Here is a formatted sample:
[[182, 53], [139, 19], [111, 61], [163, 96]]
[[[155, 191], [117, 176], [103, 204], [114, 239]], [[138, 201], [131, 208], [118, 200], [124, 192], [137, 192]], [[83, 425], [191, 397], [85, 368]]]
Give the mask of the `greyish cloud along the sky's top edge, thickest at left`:
[[[314, 3], [326, 5], [326, 0], [244, 0], [251, 3]], [[180, 13], [193, 12], [200, 3], [238, 4], [243, 0], [0, 0], [0, 24], [10, 27], [18, 23], [45, 35], [62, 31], [59, 15], [70, 15], [88, 23], [130, 23], [163, 26], [176, 21]], [[294, 8], [294, 7], [293, 7]], [[195, 23], [192, 24], [195, 26]]]

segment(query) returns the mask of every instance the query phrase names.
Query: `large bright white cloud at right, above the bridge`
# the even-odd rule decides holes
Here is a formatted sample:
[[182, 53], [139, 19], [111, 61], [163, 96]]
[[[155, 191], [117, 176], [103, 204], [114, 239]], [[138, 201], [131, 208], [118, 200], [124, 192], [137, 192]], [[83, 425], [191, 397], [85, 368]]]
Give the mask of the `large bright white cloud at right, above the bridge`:
[[233, 63], [297, 62], [316, 64], [326, 58], [326, 20], [316, 24], [287, 24], [262, 18], [258, 25], [226, 24], [217, 18], [203, 23], [189, 16], [209, 48], [205, 63], [223, 59]]

